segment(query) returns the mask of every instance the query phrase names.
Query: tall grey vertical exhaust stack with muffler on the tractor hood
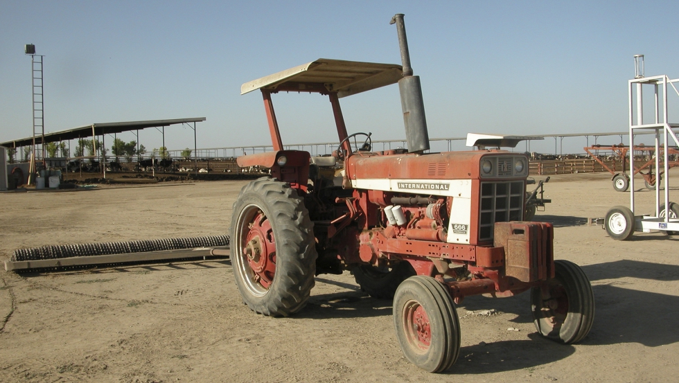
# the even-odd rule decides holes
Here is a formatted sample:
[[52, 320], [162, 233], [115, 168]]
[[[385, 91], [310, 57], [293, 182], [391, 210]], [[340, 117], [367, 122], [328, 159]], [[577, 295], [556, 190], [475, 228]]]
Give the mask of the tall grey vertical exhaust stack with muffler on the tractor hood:
[[429, 150], [429, 132], [427, 118], [422, 99], [422, 87], [419, 76], [412, 75], [408, 39], [405, 36], [403, 14], [397, 13], [389, 24], [396, 24], [400, 58], [403, 62], [403, 78], [398, 80], [400, 103], [403, 107], [403, 123], [405, 123], [405, 139], [408, 141], [408, 151], [422, 153]]

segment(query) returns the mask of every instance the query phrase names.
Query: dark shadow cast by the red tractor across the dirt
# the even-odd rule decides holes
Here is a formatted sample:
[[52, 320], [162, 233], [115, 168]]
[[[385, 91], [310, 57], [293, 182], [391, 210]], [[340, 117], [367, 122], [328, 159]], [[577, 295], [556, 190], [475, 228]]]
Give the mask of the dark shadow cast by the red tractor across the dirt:
[[[679, 342], [676, 317], [679, 316], [679, 296], [633, 290], [639, 283], [629, 278], [646, 279], [654, 285], [667, 283], [672, 290], [679, 281], [679, 266], [658, 265], [651, 262], [619, 260], [583, 267], [593, 283], [596, 314], [588, 337], [582, 346], [612, 346], [637, 343], [659, 347]], [[295, 317], [310, 319], [390, 317], [391, 301], [373, 299], [360, 287], [332, 280], [317, 280], [344, 287], [349, 291], [312, 296], [310, 304]], [[630, 285], [630, 287], [626, 287]], [[491, 299], [469, 296], [461, 305], [464, 310], [495, 309], [498, 313], [514, 314], [506, 323], [524, 323], [531, 326], [528, 339], [482, 342], [460, 349], [459, 359], [447, 374], [484, 374], [520, 369], [531, 370], [537, 366], [557, 362], [576, 352], [577, 346], [557, 344], [538, 335], [533, 330], [530, 311], [530, 293], [524, 292], [510, 299]], [[391, 318], [385, 318], [391, 321]], [[495, 319], [497, 321], [497, 319]], [[461, 323], [464, 327], [470, 323]], [[510, 325], [511, 326], [511, 325]]]

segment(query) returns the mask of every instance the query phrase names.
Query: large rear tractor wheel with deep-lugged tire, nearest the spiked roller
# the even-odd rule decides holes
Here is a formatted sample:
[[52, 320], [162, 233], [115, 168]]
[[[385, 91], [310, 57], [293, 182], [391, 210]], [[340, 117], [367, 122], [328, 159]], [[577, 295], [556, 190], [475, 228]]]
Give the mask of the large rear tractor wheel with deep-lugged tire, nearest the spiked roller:
[[317, 256], [313, 223], [296, 190], [269, 177], [240, 190], [231, 218], [231, 265], [249, 308], [272, 317], [303, 308]]

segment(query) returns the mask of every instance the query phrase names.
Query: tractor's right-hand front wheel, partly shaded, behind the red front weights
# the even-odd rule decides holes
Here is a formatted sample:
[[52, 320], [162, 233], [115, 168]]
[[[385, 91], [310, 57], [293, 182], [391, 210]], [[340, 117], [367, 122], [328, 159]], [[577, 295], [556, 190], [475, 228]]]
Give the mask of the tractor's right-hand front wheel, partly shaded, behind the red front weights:
[[543, 337], [574, 344], [594, 323], [594, 293], [584, 271], [567, 260], [554, 261], [555, 278], [531, 289], [533, 323]]

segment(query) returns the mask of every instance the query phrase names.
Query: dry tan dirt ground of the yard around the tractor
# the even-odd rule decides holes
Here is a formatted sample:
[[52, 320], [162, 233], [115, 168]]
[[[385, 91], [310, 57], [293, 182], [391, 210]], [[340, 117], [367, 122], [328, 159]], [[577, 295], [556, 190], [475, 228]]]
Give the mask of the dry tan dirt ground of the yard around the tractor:
[[[679, 172], [670, 191], [679, 201]], [[674, 181], [674, 180], [677, 181]], [[226, 233], [247, 181], [0, 193], [0, 260], [19, 247]], [[643, 188], [643, 182], [637, 183]], [[671, 382], [679, 375], [679, 235], [608, 238], [587, 217], [628, 206], [608, 174], [560, 175], [536, 220], [583, 267], [597, 312], [562, 346], [533, 327], [529, 294], [457, 308], [462, 348], [443, 374], [403, 357], [391, 302], [321, 275], [290, 318], [243, 305], [228, 260], [15, 274], [0, 271], [1, 382]], [[637, 193], [637, 213], [655, 199]], [[494, 310], [494, 311], [489, 311]]]

